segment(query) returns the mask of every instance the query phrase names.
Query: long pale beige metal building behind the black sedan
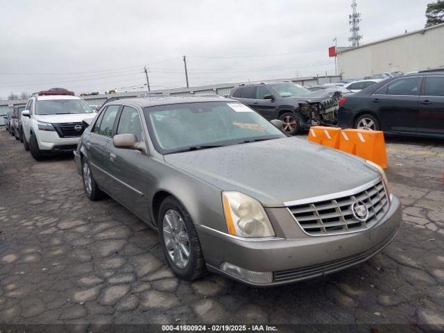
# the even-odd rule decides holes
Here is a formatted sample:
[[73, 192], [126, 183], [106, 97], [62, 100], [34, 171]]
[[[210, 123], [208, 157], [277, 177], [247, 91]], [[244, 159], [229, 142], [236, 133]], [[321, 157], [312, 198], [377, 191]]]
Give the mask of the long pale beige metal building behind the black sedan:
[[386, 71], [418, 71], [444, 66], [444, 24], [361, 46], [340, 49], [338, 74], [363, 78]]

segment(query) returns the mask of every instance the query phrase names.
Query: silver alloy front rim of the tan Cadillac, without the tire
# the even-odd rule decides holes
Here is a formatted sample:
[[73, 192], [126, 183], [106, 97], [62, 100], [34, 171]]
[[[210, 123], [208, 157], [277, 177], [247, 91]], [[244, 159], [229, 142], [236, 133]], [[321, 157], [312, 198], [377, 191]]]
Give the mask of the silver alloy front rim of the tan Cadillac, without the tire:
[[189, 236], [182, 216], [176, 210], [167, 210], [162, 221], [164, 244], [176, 266], [185, 268], [189, 262]]

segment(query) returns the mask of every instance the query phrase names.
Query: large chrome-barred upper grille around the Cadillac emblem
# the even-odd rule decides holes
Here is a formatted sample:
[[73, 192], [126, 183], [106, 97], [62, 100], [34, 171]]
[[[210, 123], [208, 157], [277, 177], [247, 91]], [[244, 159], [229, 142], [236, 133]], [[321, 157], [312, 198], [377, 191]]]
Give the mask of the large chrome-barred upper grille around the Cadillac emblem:
[[[352, 212], [354, 203], [364, 203], [366, 221], [359, 221]], [[343, 234], [366, 230], [388, 210], [388, 197], [382, 181], [350, 196], [315, 201], [288, 207], [300, 228], [312, 236]]]

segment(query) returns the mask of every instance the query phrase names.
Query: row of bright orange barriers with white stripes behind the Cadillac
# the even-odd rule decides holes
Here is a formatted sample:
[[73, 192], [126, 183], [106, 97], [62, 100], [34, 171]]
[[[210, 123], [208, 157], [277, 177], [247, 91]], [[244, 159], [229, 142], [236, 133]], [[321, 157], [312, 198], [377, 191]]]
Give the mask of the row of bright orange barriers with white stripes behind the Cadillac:
[[384, 133], [380, 130], [355, 130], [313, 126], [309, 130], [311, 142], [357, 155], [387, 169]]

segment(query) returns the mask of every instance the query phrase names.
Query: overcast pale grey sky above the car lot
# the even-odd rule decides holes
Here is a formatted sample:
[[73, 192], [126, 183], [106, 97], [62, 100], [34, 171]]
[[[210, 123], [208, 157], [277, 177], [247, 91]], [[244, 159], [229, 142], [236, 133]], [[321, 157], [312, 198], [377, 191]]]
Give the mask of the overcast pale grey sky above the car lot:
[[[432, 0], [358, 0], [363, 42], [425, 25]], [[334, 74], [351, 0], [0, 0], [0, 97]]]

